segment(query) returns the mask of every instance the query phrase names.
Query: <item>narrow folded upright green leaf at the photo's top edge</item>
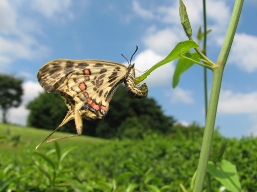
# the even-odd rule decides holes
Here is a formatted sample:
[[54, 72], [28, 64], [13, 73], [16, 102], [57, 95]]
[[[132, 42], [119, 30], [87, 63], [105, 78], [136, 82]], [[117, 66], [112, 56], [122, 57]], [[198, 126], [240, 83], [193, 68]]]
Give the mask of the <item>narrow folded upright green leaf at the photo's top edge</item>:
[[186, 32], [186, 36], [192, 36], [192, 28], [189, 22], [189, 18], [186, 12], [186, 6], [184, 5], [182, 0], [179, 0], [179, 16], [181, 20], [181, 24]]

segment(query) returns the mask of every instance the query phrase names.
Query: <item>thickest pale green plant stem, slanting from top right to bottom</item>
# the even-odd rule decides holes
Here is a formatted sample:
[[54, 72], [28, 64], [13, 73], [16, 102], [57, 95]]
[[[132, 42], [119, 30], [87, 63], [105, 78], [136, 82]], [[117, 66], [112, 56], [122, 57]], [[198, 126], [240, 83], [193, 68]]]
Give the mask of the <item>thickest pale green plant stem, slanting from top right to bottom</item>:
[[230, 48], [235, 36], [237, 24], [239, 22], [241, 10], [244, 0], [236, 0], [231, 20], [228, 26], [228, 31], [224, 40], [224, 44], [221, 48], [217, 63], [213, 68], [213, 85], [209, 101], [209, 107], [206, 118], [205, 132], [203, 137], [202, 149], [200, 153], [196, 181], [193, 192], [202, 192], [204, 186], [204, 180], [206, 176], [207, 165], [209, 161], [209, 155], [211, 151], [215, 118], [218, 105], [218, 97], [221, 88], [222, 75], [224, 67], [229, 55]]

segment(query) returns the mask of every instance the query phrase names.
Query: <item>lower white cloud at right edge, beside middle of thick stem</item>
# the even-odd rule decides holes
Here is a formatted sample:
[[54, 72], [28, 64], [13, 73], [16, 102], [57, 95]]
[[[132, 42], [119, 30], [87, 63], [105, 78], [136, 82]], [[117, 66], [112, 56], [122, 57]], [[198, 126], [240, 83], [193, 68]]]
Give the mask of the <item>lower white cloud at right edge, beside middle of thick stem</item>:
[[254, 114], [257, 113], [257, 92], [248, 94], [221, 90], [218, 103], [219, 113]]

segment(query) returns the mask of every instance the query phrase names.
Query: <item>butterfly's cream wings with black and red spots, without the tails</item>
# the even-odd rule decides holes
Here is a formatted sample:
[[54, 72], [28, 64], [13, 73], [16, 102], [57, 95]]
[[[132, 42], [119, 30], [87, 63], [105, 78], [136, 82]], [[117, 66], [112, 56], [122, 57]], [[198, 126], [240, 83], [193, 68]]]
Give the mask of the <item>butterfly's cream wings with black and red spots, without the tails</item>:
[[[126, 76], [127, 66], [100, 60], [54, 60], [38, 73], [41, 86], [65, 98], [69, 109], [86, 119], [102, 118], [112, 93]], [[74, 106], [72, 106], [74, 105]]]

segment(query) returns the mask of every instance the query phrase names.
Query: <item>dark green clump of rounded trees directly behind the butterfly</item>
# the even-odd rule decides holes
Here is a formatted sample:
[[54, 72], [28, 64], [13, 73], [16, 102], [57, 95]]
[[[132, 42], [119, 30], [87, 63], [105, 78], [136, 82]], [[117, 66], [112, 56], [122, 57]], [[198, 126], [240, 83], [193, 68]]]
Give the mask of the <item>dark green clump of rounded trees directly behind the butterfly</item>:
[[[27, 108], [31, 111], [29, 126], [52, 130], [60, 125], [67, 113], [63, 99], [56, 94], [43, 93], [31, 101]], [[102, 138], [140, 138], [143, 133], [152, 131], [166, 133], [173, 123], [173, 118], [165, 116], [153, 98], [133, 98], [124, 86], [120, 86], [104, 120], [84, 120], [84, 134]], [[76, 132], [74, 121], [60, 130]]]

